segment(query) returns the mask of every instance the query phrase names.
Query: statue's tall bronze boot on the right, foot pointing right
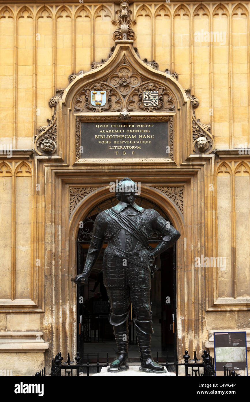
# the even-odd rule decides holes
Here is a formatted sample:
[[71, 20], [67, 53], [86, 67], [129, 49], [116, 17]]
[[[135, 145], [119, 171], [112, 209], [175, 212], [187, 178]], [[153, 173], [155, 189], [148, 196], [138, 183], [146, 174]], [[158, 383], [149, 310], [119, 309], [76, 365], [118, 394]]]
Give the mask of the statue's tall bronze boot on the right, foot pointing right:
[[146, 373], [166, 373], [167, 371], [164, 367], [152, 359], [150, 352], [151, 334], [154, 333], [152, 320], [138, 320], [134, 318], [134, 324], [136, 325], [136, 335], [140, 350], [140, 371], [145, 371]]

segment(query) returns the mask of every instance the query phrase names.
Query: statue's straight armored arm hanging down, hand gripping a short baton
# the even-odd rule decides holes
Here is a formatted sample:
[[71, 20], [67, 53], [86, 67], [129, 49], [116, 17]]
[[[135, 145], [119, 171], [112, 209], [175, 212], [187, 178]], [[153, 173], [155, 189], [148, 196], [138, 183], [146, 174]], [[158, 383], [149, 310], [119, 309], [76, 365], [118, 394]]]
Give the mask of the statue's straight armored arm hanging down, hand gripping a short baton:
[[100, 251], [102, 250], [102, 244], [104, 242], [104, 232], [106, 228], [104, 212], [97, 215], [93, 227], [92, 238], [87, 252], [85, 265], [81, 274], [75, 277], [75, 283], [87, 283], [87, 278], [91, 272], [91, 269], [96, 263]]

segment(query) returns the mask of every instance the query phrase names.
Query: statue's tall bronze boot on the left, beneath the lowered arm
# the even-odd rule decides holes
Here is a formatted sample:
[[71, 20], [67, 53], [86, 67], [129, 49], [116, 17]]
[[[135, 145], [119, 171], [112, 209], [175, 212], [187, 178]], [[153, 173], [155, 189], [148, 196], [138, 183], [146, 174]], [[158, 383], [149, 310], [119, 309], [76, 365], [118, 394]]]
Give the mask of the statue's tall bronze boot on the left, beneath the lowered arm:
[[[114, 318], [114, 315], [113, 315]], [[114, 324], [114, 320], [112, 320]], [[108, 371], [118, 373], [119, 371], [128, 370], [128, 319], [122, 324], [113, 325], [114, 335], [118, 353], [116, 358], [108, 367]]]

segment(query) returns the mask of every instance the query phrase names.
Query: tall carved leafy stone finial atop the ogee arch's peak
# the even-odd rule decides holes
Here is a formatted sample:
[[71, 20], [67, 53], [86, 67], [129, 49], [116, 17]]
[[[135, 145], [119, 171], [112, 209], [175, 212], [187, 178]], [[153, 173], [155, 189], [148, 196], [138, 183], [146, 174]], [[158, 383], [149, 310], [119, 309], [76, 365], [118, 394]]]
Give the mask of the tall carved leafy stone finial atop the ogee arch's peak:
[[120, 1], [120, 9], [116, 11], [118, 14], [117, 29], [114, 31], [113, 38], [115, 41], [132, 41], [135, 33], [131, 28], [131, 14], [128, 0]]

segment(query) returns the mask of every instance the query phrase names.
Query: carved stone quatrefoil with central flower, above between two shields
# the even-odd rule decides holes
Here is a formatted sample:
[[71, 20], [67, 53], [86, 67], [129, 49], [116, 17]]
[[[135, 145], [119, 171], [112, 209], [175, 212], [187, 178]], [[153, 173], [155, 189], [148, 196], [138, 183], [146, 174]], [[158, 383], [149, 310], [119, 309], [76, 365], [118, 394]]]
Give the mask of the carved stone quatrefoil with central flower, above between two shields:
[[125, 97], [132, 88], [140, 84], [141, 78], [138, 74], [133, 73], [127, 64], [122, 64], [117, 73], [108, 79], [108, 82]]

